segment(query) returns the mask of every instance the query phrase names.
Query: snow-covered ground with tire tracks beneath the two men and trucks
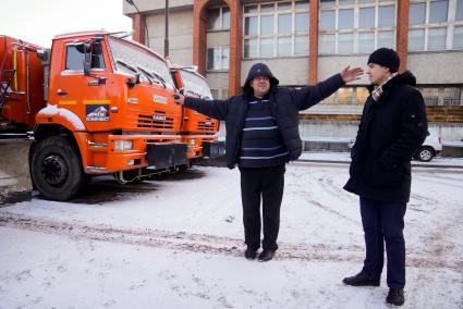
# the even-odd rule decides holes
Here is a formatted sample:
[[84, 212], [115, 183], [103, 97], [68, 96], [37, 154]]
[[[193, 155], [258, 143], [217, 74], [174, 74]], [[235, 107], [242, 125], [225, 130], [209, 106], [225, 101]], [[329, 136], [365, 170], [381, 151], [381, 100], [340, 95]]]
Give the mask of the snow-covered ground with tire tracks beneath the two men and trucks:
[[[101, 177], [72, 202], [0, 208], [0, 308], [383, 308], [386, 275], [341, 284], [364, 258], [348, 168], [288, 165], [280, 249], [265, 263], [242, 256], [237, 170]], [[463, 306], [461, 171], [414, 170], [404, 308]]]

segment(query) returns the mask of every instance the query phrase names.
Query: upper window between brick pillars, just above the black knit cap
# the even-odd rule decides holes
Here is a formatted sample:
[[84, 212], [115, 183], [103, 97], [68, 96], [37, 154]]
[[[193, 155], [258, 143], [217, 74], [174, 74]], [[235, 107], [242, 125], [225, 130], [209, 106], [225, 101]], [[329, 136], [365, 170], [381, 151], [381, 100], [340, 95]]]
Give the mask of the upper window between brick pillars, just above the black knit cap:
[[319, 0], [320, 54], [395, 48], [395, 1]]

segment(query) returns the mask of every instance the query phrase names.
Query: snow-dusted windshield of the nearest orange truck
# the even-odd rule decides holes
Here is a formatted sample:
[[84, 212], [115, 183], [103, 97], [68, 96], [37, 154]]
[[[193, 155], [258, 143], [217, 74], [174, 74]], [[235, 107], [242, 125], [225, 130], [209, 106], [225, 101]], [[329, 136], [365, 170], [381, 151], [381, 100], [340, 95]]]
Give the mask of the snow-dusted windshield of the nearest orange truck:
[[166, 85], [173, 89], [169, 67], [161, 58], [122, 39], [109, 37], [109, 46], [115, 62], [115, 70], [124, 74], [142, 73], [141, 79]]

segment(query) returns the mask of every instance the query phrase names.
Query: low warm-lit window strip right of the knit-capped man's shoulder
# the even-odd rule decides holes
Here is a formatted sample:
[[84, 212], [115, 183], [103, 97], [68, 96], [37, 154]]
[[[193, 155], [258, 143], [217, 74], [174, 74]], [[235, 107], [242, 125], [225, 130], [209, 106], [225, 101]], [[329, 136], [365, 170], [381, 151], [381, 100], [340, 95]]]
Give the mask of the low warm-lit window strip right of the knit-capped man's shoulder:
[[462, 87], [421, 86], [426, 106], [463, 106]]

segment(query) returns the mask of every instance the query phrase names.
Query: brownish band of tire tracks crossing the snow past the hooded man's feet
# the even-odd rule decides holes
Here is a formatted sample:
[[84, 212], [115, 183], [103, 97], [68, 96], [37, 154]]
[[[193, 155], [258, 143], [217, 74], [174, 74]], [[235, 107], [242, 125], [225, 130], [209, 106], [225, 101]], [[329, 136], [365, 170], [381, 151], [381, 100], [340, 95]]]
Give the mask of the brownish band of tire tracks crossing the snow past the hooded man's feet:
[[[131, 230], [105, 224], [92, 226], [75, 222], [69, 223], [29, 218], [9, 212], [0, 212], [0, 226], [66, 236], [73, 239], [100, 240], [210, 255], [243, 256], [242, 239], [206, 234], [190, 234], [150, 228]], [[463, 268], [463, 262], [460, 261], [424, 258], [419, 257], [418, 252], [413, 256], [412, 258], [407, 258], [409, 267], [446, 268], [451, 270]], [[276, 256], [277, 260], [355, 263], [361, 263], [363, 258], [363, 246], [337, 246], [328, 244], [281, 244]]]

